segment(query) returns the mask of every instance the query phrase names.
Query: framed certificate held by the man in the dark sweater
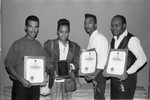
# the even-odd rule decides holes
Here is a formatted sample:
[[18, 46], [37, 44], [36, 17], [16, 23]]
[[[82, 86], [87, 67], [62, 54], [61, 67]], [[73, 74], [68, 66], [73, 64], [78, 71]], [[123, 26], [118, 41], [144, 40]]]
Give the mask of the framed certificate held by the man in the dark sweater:
[[24, 56], [24, 78], [32, 85], [45, 83], [45, 57]]

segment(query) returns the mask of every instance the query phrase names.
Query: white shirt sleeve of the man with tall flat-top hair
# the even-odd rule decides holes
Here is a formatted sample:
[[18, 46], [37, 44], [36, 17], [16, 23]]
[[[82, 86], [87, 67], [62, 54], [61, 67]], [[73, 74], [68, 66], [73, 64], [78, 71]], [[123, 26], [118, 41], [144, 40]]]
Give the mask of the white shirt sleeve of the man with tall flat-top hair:
[[108, 41], [105, 37], [96, 37], [93, 40], [93, 48], [97, 52], [97, 69], [104, 69], [108, 57]]

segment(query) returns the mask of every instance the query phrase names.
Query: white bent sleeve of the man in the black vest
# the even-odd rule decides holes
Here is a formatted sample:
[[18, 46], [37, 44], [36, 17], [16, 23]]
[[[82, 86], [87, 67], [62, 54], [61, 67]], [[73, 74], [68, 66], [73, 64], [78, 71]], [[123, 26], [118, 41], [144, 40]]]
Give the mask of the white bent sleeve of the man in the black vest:
[[128, 74], [133, 74], [146, 63], [147, 58], [138, 38], [132, 37], [128, 48], [137, 58], [135, 63], [127, 70]]

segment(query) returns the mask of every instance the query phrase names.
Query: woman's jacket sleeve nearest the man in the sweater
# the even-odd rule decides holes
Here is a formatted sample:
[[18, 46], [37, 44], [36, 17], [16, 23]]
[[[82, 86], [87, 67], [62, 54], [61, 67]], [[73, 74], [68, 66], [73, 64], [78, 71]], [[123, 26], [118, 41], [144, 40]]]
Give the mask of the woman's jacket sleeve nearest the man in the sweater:
[[51, 51], [52, 42], [44, 43], [44, 56], [46, 58], [46, 72], [50, 75], [54, 72], [53, 56]]

